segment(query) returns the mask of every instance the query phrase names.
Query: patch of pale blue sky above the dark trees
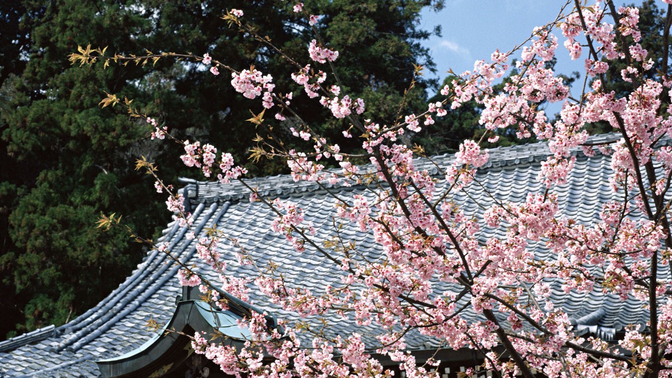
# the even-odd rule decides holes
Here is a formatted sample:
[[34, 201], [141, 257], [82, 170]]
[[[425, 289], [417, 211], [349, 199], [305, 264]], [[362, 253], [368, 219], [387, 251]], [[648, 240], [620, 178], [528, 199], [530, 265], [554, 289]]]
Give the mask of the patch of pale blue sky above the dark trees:
[[[565, 3], [565, 0], [446, 0], [446, 7], [438, 13], [425, 9], [421, 28], [433, 30], [437, 25], [442, 26], [442, 37], [433, 36], [424, 43], [437, 65], [436, 76], [443, 79], [448, 75], [448, 69], [458, 74], [471, 70], [474, 61], [489, 61], [497, 48], [500, 51], [511, 50], [526, 40], [536, 26], [555, 20]], [[624, 4], [626, 1], [616, 3]], [[640, 1], [631, 0], [628, 3]], [[570, 5], [566, 12], [571, 9]], [[562, 35], [559, 31], [555, 34], [560, 44], [556, 50], [556, 69], [560, 73], [581, 72], [583, 56], [578, 61], [571, 61], [562, 46]], [[519, 56], [519, 53], [513, 55], [514, 58]], [[429, 75], [428, 72], [426, 74]]]

